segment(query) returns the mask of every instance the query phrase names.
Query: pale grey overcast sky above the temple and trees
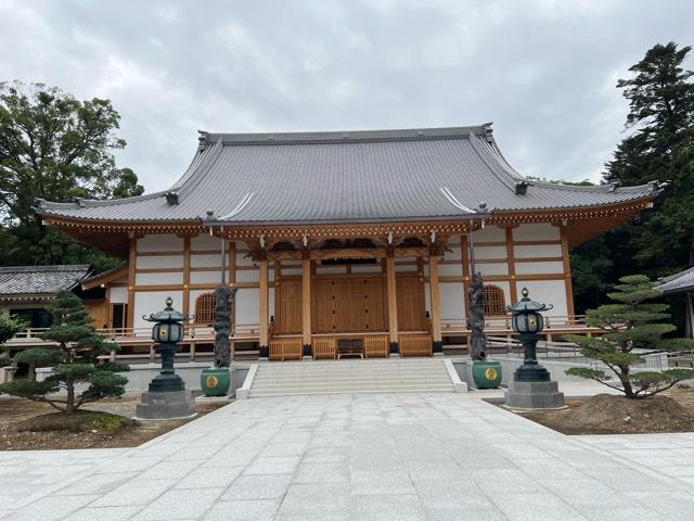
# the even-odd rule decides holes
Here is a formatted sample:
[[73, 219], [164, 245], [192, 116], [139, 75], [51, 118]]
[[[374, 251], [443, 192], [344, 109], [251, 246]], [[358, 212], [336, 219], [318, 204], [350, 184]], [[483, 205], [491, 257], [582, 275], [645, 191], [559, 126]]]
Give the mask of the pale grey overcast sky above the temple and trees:
[[694, 2], [0, 0], [0, 80], [111, 99], [147, 191], [197, 129], [486, 122], [520, 174], [597, 181], [626, 136], [617, 79], [670, 40], [694, 43]]

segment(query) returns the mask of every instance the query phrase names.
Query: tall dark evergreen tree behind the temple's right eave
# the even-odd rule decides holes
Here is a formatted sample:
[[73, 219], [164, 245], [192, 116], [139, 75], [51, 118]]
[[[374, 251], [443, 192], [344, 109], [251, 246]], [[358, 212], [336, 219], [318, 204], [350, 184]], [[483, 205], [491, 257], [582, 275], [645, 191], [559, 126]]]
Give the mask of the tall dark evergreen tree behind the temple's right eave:
[[[683, 65], [690, 51], [658, 43], [617, 82], [629, 102], [631, 134], [606, 164], [604, 179], [622, 186], [658, 181], [663, 191], [654, 211], [574, 250], [579, 310], [595, 305], [595, 291], [602, 297], [606, 281], [633, 272], [634, 263], [651, 277], [694, 265], [694, 73]], [[591, 265], [597, 268], [591, 271]]]

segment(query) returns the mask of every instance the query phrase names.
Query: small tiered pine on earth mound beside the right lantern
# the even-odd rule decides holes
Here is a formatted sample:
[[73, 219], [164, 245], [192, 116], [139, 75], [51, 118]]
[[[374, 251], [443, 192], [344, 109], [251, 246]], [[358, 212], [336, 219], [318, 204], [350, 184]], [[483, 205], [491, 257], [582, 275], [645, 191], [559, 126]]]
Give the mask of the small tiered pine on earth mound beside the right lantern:
[[602, 336], [567, 334], [567, 340], [576, 342], [588, 358], [602, 361], [619, 380], [619, 384], [608, 382], [602, 369], [573, 367], [567, 374], [588, 378], [621, 391], [628, 398], [647, 398], [670, 389], [677, 382], [694, 378], [694, 369], [666, 369], [663, 371], [634, 370], [644, 356], [661, 352], [694, 348], [692, 339], [664, 339], [674, 331], [667, 323], [667, 304], [648, 303], [663, 293], [653, 287], [644, 275], [631, 275], [619, 279], [615, 292], [608, 296], [615, 304], [604, 304], [589, 309], [588, 326], [604, 331]]

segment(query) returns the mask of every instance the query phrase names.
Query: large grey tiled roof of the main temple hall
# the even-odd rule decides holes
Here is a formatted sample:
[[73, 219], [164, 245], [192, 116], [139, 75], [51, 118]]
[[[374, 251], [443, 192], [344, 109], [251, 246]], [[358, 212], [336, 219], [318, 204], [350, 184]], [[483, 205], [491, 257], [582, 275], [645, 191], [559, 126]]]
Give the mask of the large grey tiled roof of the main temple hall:
[[504, 160], [490, 124], [356, 132], [203, 132], [200, 141], [190, 167], [168, 191], [117, 201], [41, 201], [39, 212], [104, 221], [197, 220], [205, 219], [207, 211], [230, 223], [368, 221], [465, 216], [483, 201], [491, 212], [574, 208], [656, 192], [653, 185], [574, 187], [527, 180], [527, 191], [516, 193], [516, 183], [526, 179]]

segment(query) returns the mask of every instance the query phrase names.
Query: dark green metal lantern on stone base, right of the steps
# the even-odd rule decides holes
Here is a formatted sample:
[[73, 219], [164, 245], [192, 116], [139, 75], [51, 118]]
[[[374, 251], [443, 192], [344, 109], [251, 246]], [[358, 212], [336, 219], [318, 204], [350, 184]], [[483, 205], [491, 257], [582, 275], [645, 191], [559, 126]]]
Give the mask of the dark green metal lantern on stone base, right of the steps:
[[552, 305], [539, 304], [529, 298], [527, 288], [523, 298], [507, 308], [511, 312], [513, 330], [523, 344], [523, 365], [513, 373], [513, 381], [504, 393], [504, 403], [510, 408], [548, 409], [564, 406], [564, 394], [557, 383], [551, 381], [550, 371], [538, 364], [537, 344], [544, 329], [541, 312], [552, 309]]

